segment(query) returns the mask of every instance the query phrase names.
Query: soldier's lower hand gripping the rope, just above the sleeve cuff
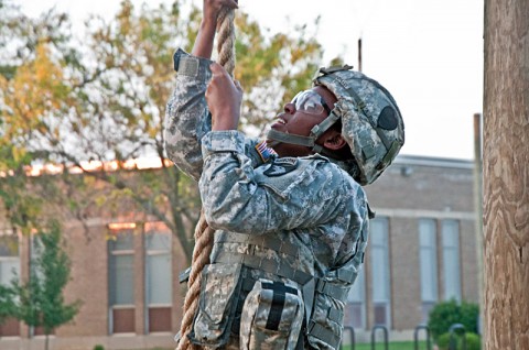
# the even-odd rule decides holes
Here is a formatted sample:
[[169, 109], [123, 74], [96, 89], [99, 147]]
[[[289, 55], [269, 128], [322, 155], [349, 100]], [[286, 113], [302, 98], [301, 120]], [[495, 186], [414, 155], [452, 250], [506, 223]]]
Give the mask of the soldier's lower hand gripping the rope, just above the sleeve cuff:
[[242, 102], [242, 88], [218, 63], [213, 63], [212, 81], [206, 89], [206, 101], [213, 118], [213, 130], [237, 130]]

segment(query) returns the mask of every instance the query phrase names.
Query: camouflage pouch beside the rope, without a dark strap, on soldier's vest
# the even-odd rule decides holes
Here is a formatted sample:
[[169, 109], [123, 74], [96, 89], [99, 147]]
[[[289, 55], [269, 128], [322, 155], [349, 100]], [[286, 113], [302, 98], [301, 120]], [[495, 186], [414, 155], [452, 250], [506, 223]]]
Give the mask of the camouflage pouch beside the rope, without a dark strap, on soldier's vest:
[[198, 310], [190, 335], [193, 343], [218, 348], [228, 341], [240, 293], [240, 264], [224, 263], [204, 267]]

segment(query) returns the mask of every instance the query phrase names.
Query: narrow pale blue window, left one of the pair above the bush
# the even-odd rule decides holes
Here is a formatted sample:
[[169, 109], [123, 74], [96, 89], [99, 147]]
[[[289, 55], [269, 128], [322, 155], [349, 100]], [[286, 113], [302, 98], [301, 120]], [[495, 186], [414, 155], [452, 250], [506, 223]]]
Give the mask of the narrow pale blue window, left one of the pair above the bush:
[[435, 226], [435, 220], [419, 220], [420, 283], [423, 322], [428, 322], [430, 310], [438, 302], [438, 250]]

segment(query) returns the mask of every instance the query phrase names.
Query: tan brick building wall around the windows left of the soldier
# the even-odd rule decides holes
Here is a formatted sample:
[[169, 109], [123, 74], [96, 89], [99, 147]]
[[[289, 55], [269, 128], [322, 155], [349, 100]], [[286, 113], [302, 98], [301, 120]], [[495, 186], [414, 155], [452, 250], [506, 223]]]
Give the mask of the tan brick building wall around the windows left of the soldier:
[[[172, 306], [170, 310], [170, 329], [150, 332], [145, 317], [145, 253], [144, 253], [144, 219], [137, 218], [138, 225], [133, 232], [133, 288], [134, 288], [134, 329], [126, 333], [112, 333], [111, 310], [109, 309], [109, 254], [108, 242], [112, 231], [108, 219], [90, 219], [87, 226], [69, 222], [63, 228], [67, 241], [67, 251], [72, 261], [72, 281], [65, 288], [66, 303], [80, 300], [82, 306], [74, 321], [56, 329], [51, 338], [53, 349], [93, 349], [102, 344], [106, 349], [147, 349], [174, 348], [174, 335], [180, 330], [184, 287], [179, 284], [179, 273], [186, 267], [186, 260], [177, 240], [171, 240]], [[128, 221], [134, 222], [134, 220]], [[159, 228], [163, 225], [154, 222]], [[171, 234], [166, 229], [165, 231]], [[29, 275], [30, 238], [20, 238], [21, 276]], [[44, 342], [42, 336], [34, 336], [39, 330], [30, 330], [20, 324], [19, 337], [1, 338], [1, 349], [32, 349]], [[33, 335], [33, 336], [30, 336]]]

